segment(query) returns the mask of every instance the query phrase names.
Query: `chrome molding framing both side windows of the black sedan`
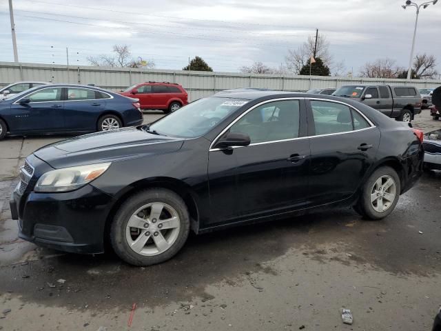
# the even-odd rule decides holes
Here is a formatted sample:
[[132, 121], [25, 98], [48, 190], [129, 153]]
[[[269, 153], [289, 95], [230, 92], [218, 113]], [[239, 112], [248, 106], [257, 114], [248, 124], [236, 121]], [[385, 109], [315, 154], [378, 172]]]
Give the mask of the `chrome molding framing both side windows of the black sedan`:
[[259, 146], [259, 145], [266, 145], [268, 143], [280, 143], [280, 142], [284, 142], [284, 141], [294, 141], [294, 140], [300, 140], [300, 139], [314, 139], [316, 137], [329, 137], [329, 136], [336, 136], [338, 134], [349, 134], [349, 133], [353, 133], [353, 132], [360, 132], [360, 131], [365, 131], [365, 130], [370, 130], [373, 128], [376, 128], [376, 126], [371, 122], [370, 119], [368, 119], [365, 114], [363, 114], [362, 112], [360, 112], [360, 110], [354, 108], [353, 106], [349, 105], [348, 103], [342, 102], [342, 101], [337, 101], [337, 100], [329, 100], [329, 99], [320, 99], [320, 98], [278, 98], [278, 99], [271, 99], [271, 100], [265, 100], [261, 103], [258, 103], [257, 105], [253, 106], [252, 108], [250, 108], [249, 110], [247, 110], [246, 112], [244, 112], [243, 114], [241, 114], [237, 119], [235, 119], [234, 121], [232, 121], [232, 123], [229, 124], [229, 126], [227, 126], [227, 128], [225, 128], [224, 130], [222, 130], [222, 132], [220, 132], [220, 134], [218, 134], [218, 136], [216, 137], [216, 139], [214, 139], [214, 141], [212, 142], [212, 144], [209, 146], [209, 152], [216, 152], [218, 150], [225, 150], [225, 148], [213, 148], [213, 146], [215, 145], [215, 143], [217, 142], [217, 140], [222, 137], [222, 135], [227, 132], [227, 130], [229, 128], [231, 128], [234, 123], [236, 123], [236, 121], [238, 121], [240, 118], [242, 118], [243, 116], [245, 116], [245, 114], [247, 114], [248, 112], [250, 112], [251, 110], [253, 110], [254, 108], [257, 108], [258, 106], [261, 106], [265, 103], [269, 103], [271, 101], [280, 101], [280, 100], [300, 100], [300, 99], [309, 99], [309, 100], [317, 100], [317, 101], [329, 101], [329, 102], [334, 102], [334, 103], [341, 103], [342, 105], [348, 106], [349, 108], [355, 110], [356, 112], [358, 112], [358, 114], [360, 114], [366, 121], [367, 123], [369, 123], [369, 128], [362, 128], [362, 129], [358, 129], [358, 130], [351, 130], [351, 131], [346, 131], [346, 132], [336, 132], [336, 133], [328, 133], [328, 134], [317, 134], [314, 136], [305, 136], [305, 137], [296, 137], [296, 138], [291, 138], [291, 139], [282, 139], [282, 140], [271, 140], [271, 141], [262, 141], [259, 143], [250, 143], [248, 146], [232, 146], [232, 148], [243, 148], [243, 147], [251, 147], [251, 146]]

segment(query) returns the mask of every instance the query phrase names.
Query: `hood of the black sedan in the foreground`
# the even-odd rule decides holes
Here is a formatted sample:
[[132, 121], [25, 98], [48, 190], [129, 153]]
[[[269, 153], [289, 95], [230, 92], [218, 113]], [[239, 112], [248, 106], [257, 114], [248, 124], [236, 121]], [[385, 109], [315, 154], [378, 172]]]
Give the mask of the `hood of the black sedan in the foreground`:
[[52, 143], [36, 150], [34, 155], [57, 169], [174, 152], [182, 147], [183, 141], [137, 128], [123, 128]]

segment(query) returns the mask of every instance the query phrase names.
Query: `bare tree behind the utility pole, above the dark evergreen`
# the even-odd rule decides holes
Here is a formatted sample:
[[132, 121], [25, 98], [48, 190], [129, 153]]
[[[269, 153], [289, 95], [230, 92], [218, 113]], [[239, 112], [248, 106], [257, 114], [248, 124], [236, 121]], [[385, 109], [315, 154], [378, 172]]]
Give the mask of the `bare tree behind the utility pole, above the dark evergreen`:
[[[314, 54], [314, 46], [316, 45], [316, 36], [309, 36], [307, 41], [296, 50], [288, 50], [285, 57], [285, 63], [289, 71], [298, 74], [303, 66], [307, 65], [312, 54]], [[332, 56], [329, 54], [329, 41], [324, 34], [318, 34], [316, 57], [322, 59], [325, 66], [330, 67]]]

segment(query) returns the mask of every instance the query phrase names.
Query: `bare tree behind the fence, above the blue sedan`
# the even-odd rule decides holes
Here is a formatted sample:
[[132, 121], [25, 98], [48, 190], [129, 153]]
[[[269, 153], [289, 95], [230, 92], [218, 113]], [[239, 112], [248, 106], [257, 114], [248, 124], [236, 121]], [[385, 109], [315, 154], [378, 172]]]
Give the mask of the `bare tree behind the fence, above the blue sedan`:
[[127, 45], [114, 45], [114, 54], [101, 54], [96, 57], [87, 57], [92, 66], [121, 67], [121, 68], [148, 68], [155, 67], [154, 60], [144, 60], [142, 57], [133, 58]]

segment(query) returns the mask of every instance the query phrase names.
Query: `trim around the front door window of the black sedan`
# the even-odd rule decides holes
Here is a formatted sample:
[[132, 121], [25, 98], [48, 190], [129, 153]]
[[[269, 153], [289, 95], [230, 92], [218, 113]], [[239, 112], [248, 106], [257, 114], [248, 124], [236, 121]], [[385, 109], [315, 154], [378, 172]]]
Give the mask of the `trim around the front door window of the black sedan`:
[[[265, 105], [265, 103], [271, 103], [271, 102], [274, 102], [274, 101], [287, 101], [287, 100], [298, 100], [299, 101], [299, 131], [298, 131], [299, 137], [289, 138], [289, 139], [273, 140], [273, 141], [262, 141], [262, 142], [259, 142], [259, 143], [250, 143], [249, 146], [263, 145], [263, 144], [266, 144], [266, 143], [279, 143], [279, 142], [283, 142], [283, 141], [291, 141], [291, 140], [298, 140], [298, 139], [308, 139], [309, 137], [307, 137], [307, 135], [304, 135], [307, 132], [305, 132], [305, 130], [302, 130], [302, 123], [306, 124], [306, 122], [307, 122], [306, 121], [306, 117], [303, 116], [303, 114], [306, 114], [305, 98], [302, 98], [302, 97], [277, 98], [277, 99], [270, 99], [270, 100], [265, 100], [265, 101], [262, 101], [260, 103], [257, 103], [256, 105], [252, 106], [251, 108], [247, 109], [245, 112], [240, 114], [238, 117], [236, 117], [236, 119], [234, 119], [231, 123], [229, 123], [228, 126], [226, 128], [224, 128], [216, 136], [215, 139], [213, 139], [212, 143], [209, 146], [209, 152], [215, 152], [215, 151], [218, 151], [218, 150], [222, 150], [220, 148], [213, 148], [213, 146], [220, 139], [220, 137], [222, 137], [223, 134], [225, 134], [225, 132], [227, 132], [229, 130], [229, 128], [234, 126], [234, 124], [236, 122], [240, 121], [240, 119], [242, 119], [242, 117], [244, 117], [246, 114], [248, 114], [249, 112], [252, 112], [252, 110], [254, 110], [255, 108], [258, 108], [260, 106]], [[305, 128], [305, 126], [303, 126], [303, 127]], [[233, 146], [233, 148], [243, 148], [243, 147], [249, 147], [249, 146]]]

